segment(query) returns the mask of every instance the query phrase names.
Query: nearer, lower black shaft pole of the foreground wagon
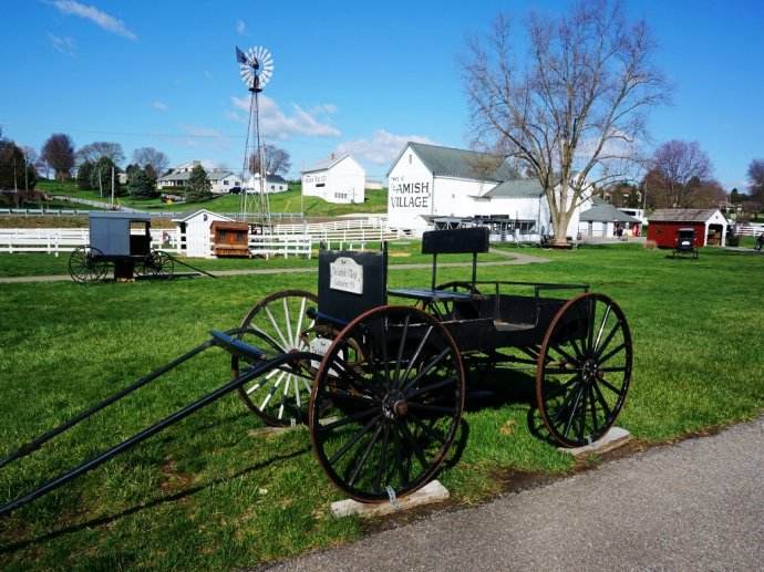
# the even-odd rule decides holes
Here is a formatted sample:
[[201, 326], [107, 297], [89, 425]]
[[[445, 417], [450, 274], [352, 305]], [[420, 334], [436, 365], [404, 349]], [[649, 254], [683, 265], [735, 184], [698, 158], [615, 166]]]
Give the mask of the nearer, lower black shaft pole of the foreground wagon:
[[[211, 343], [211, 342], [208, 342]], [[207, 344], [208, 344], [207, 343]], [[207, 345], [204, 344], [204, 345]], [[12, 511], [17, 510], [18, 508], [33, 501], [34, 499], [42, 497], [43, 495], [47, 495], [48, 492], [58, 489], [62, 485], [69, 482], [70, 480], [79, 477], [83, 472], [87, 472], [89, 470], [94, 469], [99, 465], [102, 465], [106, 462], [109, 459], [112, 457], [118, 455], [120, 453], [133, 447], [134, 445], [137, 445], [138, 443], [147, 439], [148, 437], [152, 437], [153, 435], [159, 433], [162, 429], [168, 427], [169, 425], [173, 425], [186, 417], [188, 417], [192, 413], [200, 409], [202, 407], [205, 407], [209, 405], [210, 403], [219, 399], [224, 395], [228, 394], [229, 392], [236, 389], [237, 387], [241, 386], [242, 384], [249, 382], [250, 379], [264, 374], [266, 371], [271, 370], [273, 367], [278, 367], [282, 365], [283, 363], [288, 362], [295, 362], [303, 358], [311, 358], [314, 357], [313, 354], [309, 353], [291, 353], [291, 354], [281, 354], [272, 360], [269, 360], [267, 362], [262, 362], [261, 364], [258, 364], [257, 366], [252, 366], [250, 370], [248, 370], [245, 374], [236, 377], [235, 379], [228, 382], [226, 385], [218, 387], [215, 389], [213, 393], [209, 393], [202, 397], [200, 399], [195, 401], [194, 403], [187, 405], [183, 409], [175, 412], [173, 415], [169, 415], [168, 417], [165, 417], [161, 422], [155, 423], [151, 427], [142, 430], [141, 433], [134, 435], [133, 437], [122, 441], [118, 445], [115, 445], [111, 449], [102, 453], [97, 457], [94, 457], [92, 459], [89, 459], [74, 469], [64, 472], [63, 475], [60, 475], [59, 477], [55, 477], [54, 479], [49, 480], [41, 487], [37, 488], [32, 492], [29, 492], [22, 497], [19, 497], [11, 502], [8, 502], [0, 507], [0, 517], [3, 517], [6, 514], [10, 514]]]

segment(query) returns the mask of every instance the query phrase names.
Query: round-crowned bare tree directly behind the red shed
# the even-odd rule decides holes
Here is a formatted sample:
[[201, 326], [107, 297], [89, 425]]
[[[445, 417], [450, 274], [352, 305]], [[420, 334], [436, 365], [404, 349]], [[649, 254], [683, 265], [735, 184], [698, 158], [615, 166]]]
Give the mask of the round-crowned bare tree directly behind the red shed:
[[672, 139], [663, 143], [652, 155], [653, 200], [660, 207], [684, 208], [701, 181], [711, 177], [711, 160], [696, 142]]

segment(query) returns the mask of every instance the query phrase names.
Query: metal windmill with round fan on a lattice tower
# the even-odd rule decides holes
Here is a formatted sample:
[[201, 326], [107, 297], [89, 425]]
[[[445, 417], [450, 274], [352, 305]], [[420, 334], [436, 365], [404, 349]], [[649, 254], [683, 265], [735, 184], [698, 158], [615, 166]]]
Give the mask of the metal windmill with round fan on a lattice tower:
[[[260, 136], [260, 101], [259, 101], [259, 94], [262, 91], [262, 89], [266, 86], [268, 81], [270, 80], [271, 75], [273, 75], [273, 56], [270, 54], [270, 52], [259, 45], [256, 48], [250, 48], [246, 52], [242, 52], [239, 50], [239, 48], [236, 48], [236, 61], [239, 63], [239, 69], [240, 69], [240, 74], [241, 74], [241, 80], [244, 83], [247, 85], [247, 89], [249, 90], [250, 97], [249, 97], [249, 121], [248, 121], [248, 126], [247, 126], [247, 141], [245, 143], [245, 148], [244, 148], [244, 166], [241, 168], [241, 181], [244, 183], [245, 176], [247, 171], [249, 170], [249, 160], [250, 160], [250, 152], [249, 152], [249, 139], [250, 135], [254, 135], [254, 139], [257, 144], [257, 154], [258, 154], [258, 163], [260, 165], [260, 193], [259, 193], [259, 199], [260, 199], [260, 215], [262, 217], [262, 222], [270, 225], [270, 208], [268, 205], [268, 194], [266, 193], [266, 176], [267, 174], [265, 173], [266, 168], [266, 157], [265, 157], [265, 147], [261, 142], [261, 136]], [[255, 122], [252, 122], [252, 117], [255, 118]], [[247, 210], [248, 210], [248, 193], [246, 187], [242, 189], [241, 194], [241, 214], [244, 215], [245, 219], [247, 217]]]

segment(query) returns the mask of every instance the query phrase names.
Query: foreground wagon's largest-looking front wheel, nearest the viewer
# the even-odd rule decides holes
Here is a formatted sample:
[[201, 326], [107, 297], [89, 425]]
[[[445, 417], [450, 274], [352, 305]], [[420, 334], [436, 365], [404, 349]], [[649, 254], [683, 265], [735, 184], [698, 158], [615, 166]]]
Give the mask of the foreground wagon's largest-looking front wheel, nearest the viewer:
[[313, 450], [354, 499], [409, 495], [445, 459], [464, 389], [458, 349], [434, 316], [411, 306], [370, 310], [321, 362], [309, 405]]

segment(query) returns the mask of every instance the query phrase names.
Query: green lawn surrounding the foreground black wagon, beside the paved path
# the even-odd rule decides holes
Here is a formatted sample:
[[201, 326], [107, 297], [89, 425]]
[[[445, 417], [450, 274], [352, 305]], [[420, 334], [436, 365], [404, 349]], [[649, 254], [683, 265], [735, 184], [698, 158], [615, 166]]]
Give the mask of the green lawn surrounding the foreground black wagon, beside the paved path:
[[[527, 252], [531, 252], [529, 249]], [[537, 251], [536, 251], [537, 252]], [[704, 249], [671, 260], [637, 246], [546, 252], [547, 264], [486, 267], [483, 280], [589, 282], [619, 302], [632, 331], [632, 386], [618, 424], [646, 444], [748, 419], [764, 408], [764, 257]], [[443, 269], [446, 280], [466, 269]], [[422, 285], [429, 271], [391, 271]], [[314, 291], [314, 274], [220, 280], [0, 284], [0, 456], [205, 340], [261, 297]], [[221, 385], [210, 351], [110, 414], [0, 469], [0, 502]], [[465, 414], [468, 439], [440, 479], [455, 502], [495, 495], [507, 471], [564, 474], [572, 461], [527, 427], [527, 381], [514, 398]], [[259, 422], [228, 396], [0, 521], [0, 568], [230, 569], [359, 538], [333, 519], [341, 495], [304, 429], [251, 435]]]

